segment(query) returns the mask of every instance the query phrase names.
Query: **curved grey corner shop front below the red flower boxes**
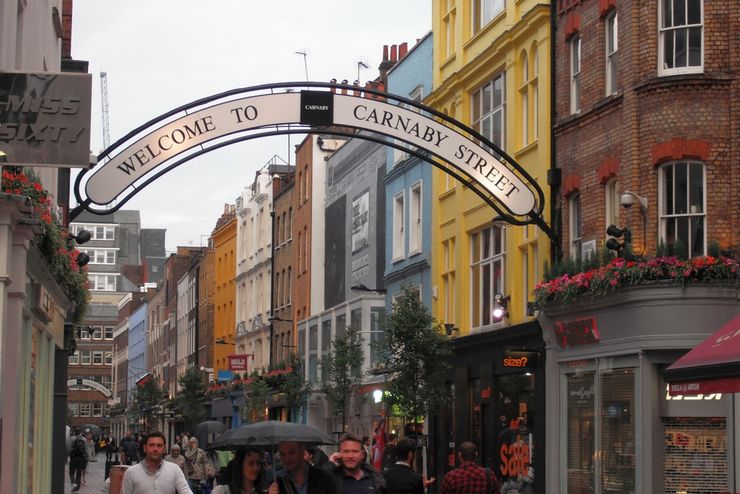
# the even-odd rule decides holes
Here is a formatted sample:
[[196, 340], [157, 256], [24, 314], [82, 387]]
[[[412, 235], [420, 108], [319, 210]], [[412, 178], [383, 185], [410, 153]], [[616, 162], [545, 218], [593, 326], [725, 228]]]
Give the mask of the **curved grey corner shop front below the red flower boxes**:
[[664, 371], [737, 313], [738, 295], [633, 287], [541, 311], [548, 493], [736, 490], [734, 395], [671, 396]]

